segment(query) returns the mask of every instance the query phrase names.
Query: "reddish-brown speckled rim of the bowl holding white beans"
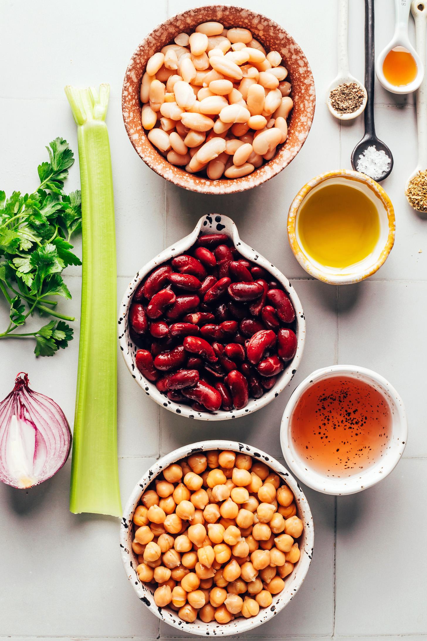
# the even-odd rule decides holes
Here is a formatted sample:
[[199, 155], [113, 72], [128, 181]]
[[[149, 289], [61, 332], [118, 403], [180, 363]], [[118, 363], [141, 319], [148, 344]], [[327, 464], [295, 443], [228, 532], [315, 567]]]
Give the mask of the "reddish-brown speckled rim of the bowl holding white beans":
[[[163, 169], [161, 169], [158, 162], [157, 163], [153, 162], [149, 154], [145, 154], [143, 147], [138, 146], [136, 144], [134, 128], [131, 126], [130, 122], [127, 120], [127, 113], [133, 112], [133, 104], [131, 103], [131, 100], [132, 100], [131, 94], [127, 89], [127, 86], [129, 81], [134, 82], [134, 75], [135, 75], [134, 65], [137, 62], [141, 54], [141, 51], [143, 51], [147, 46], [149, 46], [149, 41], [153, 33], [155, 33], [158, 29], [165, 29], [166, 25], [167, 26], [173, 25], [174, 22], [186, 16], [191, 17], [193, 19], [194, 24], [197, 25], [198, 24], [197, 16], [203, 12], [209, 12], [209, 11], [212, 12], [214, 8], [216, 10], [221, 9], [224, 11], [227, 11], [230, 9], [241, 10], [242, 12], [245, 12], [245, 15], [252, 16], [252, 18], [255, 19], [255, 21], [262, 19], [268, 22], [271, 29], [275, 29], [276, 31], [281, 31], [282, 33], [284, 33], [284, 35], [286, 35], [287, 39], [289, 40], [289, 44], [291, 44], [291, 46], [293, 47], [292, 57], [294, 57], [296, 53], [298, 53], [298, 55], [300, 56], [300, 60], [303, 60], [303, 63], [304, 63], [303, 66], [307, 70], [307, 74], [309, 74], [309, 81], [306, 82], [307, 87], [309, 87], [309, 90], [307, 89], [307, 92], [304, 96], [306, 125], [303, 133], [301, 133], [298, 136], [298, 142], [293, 146], [292, 148], [293, 151], [291, 153], [290, 152], [288, 153], [287, 149], [285, 149], [284, 146], [281, 146], [278, 153], [271, 160], [264, 163], [264, 165], [262, 165], [261, 167], [255, 169], [255, 171], [252, 172], [252, 174], [249, 174], [249, 176], [243, 176], [242, 178], [234, 178], [232, 180], [225, 180], [225, 179], [210, 180], [209, 178], [204, 178], [202, 176], [198, 176], [197, 174], [189, 174], [188, 172], [175, 166], [173, 166], [174, 170], [176, 169], [177, 171], [176, 172], [174, 171], [173, 174], [171, 171], [164, 171]], [[204, 17], [203, 21], [205, 22], [206, 20], [207, 18]], [[174, 185], [178, 185], [179, 187], [182, 187], [189, 191], [198, 192], [200, 194], [235, 194], [237, 192], [246, 191], [254, 187], [257, 187], [258, 185], [262, 185], [262, 183], [265, 183], [266, 181], [270, 180], [274, 176], [277, 176], [277, 174], [280, 171], [282, 171], [282, 169], [287, 167], [287, 165], [289, 165], [289, 163], [295, 158], [298, 152], [302, 149], [302, 146], [305, 143], [305, 140], [307, 140], [307, 136], [310, 133], [310, 128], [312, 126], [312, 122], [314, 118], [315, 108], [316, 108], [316, 90], [314, 86], [314, 77], [313, 77], [309, 62], [304, 52], [302, 51], [301, 47], [298, 45], [298, 43], [295, 42], [294, 38], [291, 35], [289, 35], [289, 33], [287, 33], [286, 29], [284, 29], [277, 22], [271, 20], [270, 18], [266, 17], [262, 13], [254, 12], [250, 9], [241, 8], [239, 6], [234, 6], [232, 4], [205, 4], [204, 6], [198, 6], [195, 8], [188, 9], [181, 13], [176, 13], [172, 17], [166, 19], [164, 22], [161, 22], [160, 24], [158, 24], [143, 39], [140, 45], [136, 47], [133, 55], [131, 56], [131, 60], [129, 61], [129, 64], [127, 65], [127, 69], [125, 71], [125, 76], [123, 81], [123, 87], [122, 87], [122, 116], [124, 120], [124, 125], [125, 125], [127, 135], [129, 137], [129, 140], [131, 141], [136, 153], [138, 153], [138, 156], [140, 156], [140, 158], [145, 162], [146, 165], [148, 165], [148, 167], [150, 167], [150, 169], [155, 171], [156, 174], [158, 174], [162, 178], [165, 178], [166, 180], [170, 181]], [[143, 140], [147, 138], [147, 136], [145, 135], [145, 131], [143, 129], [142, 129], [142, 136], [143, 136]], [[159, 158], [161, 158], [162, 161], [165, 160], [163, 156], [161, 156], [160, 154], [158, 154], [158, 156]], [[278, 160], [280, 160], [280, 162], [278, 162]], [[193, 176], [195, 176], [196, 179], [193, 178]]]

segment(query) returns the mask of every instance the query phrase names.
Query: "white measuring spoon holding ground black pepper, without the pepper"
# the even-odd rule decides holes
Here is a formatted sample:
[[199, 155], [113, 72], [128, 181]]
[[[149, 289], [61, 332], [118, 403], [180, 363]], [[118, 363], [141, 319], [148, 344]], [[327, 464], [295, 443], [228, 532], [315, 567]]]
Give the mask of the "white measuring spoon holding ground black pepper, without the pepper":
[[[367, 102], [366, 88], [354, 76], [351, 76], [348, 66], [348, 0], [338, 0], [338, 34], [337, 34], [337, 57], [338, 57], [338, 74], [337, 77], [330, 83], [328, 91], [326, 92], [326, 104], [329, 111], [335, 118], [339, 120], [352, 120], [356, 118], [364, 108]], [[332, 104], [330, 104], [330, 92], [342, 85], [343, 83], [356, 83], [364, 92], [363, 102], [359, 109], [353, 113], [338, 113]]]

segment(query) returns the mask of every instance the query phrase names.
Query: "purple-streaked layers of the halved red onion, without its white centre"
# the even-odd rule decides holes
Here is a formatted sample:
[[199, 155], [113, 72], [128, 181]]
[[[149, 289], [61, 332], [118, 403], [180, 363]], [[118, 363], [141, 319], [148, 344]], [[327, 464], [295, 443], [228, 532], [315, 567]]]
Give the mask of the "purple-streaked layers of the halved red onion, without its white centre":
[[[40, 447], [43, 447], [46, 453], [44, 465], [37, 478], [28, 485], [17, 485], [17, 479], [8, 474], [6, 448], [8, 428], [13, 416], [36, 429], [33, 461], [36, 461]], [[67, 461], [71, 444], [70, 426], [60, 406], [48, 396], [31, 390], [28, 374], [19, 372], [12, 392], [0, 403], [0, 481], [17, 489], [28, 489], [47, 481]], [[53, 466], [54, 457], [58, 460]]]

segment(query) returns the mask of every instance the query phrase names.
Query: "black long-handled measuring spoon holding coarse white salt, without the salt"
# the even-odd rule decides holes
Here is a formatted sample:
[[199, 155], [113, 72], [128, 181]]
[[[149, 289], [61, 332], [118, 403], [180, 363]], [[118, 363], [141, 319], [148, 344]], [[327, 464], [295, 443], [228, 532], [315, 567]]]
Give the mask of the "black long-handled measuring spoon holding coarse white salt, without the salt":
[[393, 169], [393, 156], [389, 147], [382, 142], [375, 134], [374, 123], [374, 82], [375, 82], [375, 45], [374, 45], [374, 0], [365, 0], [365, 87], [367, 91], [367, 104], [364, 112], [365, 135], [353, 149], [351, 154], [351, 166], [355, 171], [359, 156], [368, 147], [375, 146], [376, 151], [383, 151], [390, 158], [390, 165], [387, 171], [375, 180], [379, 183], [389, 176]]

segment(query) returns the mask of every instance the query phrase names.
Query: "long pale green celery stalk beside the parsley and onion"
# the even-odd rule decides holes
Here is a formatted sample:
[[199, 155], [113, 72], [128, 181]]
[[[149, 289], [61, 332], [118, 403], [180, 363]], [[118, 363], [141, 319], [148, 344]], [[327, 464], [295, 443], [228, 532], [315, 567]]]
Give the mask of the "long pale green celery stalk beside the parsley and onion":
[[70, 511], [120, 516], [117, 465], [117, 267], [105, 121], [109, 85], [65, 87], [79, 146], [83, 274]]

